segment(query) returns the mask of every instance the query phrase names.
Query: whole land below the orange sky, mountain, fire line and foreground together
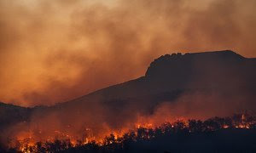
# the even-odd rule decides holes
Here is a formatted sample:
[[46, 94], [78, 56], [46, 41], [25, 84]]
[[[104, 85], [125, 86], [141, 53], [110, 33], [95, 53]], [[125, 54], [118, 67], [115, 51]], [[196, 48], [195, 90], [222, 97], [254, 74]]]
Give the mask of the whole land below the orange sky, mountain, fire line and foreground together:
[[255, 62], [230, 50], [166, 54], [143, 77], [64, 103], [0, 103], [0, 143], [10, 152], [256, 152]]

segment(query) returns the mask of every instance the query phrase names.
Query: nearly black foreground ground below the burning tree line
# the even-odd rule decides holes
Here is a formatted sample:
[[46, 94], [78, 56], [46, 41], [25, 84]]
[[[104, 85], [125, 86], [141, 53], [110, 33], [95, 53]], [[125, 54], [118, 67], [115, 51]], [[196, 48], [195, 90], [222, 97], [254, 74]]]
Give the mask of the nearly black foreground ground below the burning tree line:
[[[142, 130], [142, 129], [139, 129]], [[122, 139], [109, 136], [104, 145], [95, 142], [75, 147], [67, 141], [41, 144], [27, 148], [24, 152], [256, 152], [256, 129], [222, 129], [214, 132], [188, 133], [154, 133], [154, 138], [133, 137], [132, 133]], [[119, 141], [122, 140], [122, 143]], [[1, 152], [21, 152], [16, 149]]]

